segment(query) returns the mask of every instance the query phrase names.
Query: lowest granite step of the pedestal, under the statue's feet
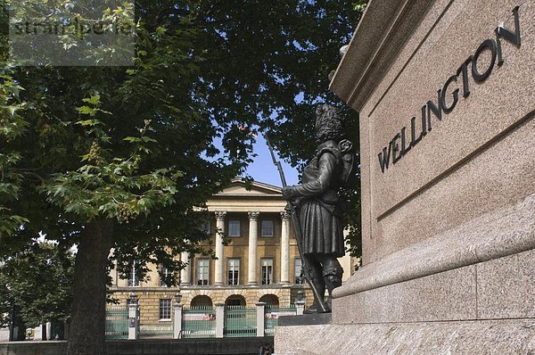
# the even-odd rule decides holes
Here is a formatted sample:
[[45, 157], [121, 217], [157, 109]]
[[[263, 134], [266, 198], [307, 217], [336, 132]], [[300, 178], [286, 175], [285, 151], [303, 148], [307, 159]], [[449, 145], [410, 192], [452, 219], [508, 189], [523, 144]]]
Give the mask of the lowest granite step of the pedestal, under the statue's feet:
[[276, 355], [533, 355], [535, 319], [285, 326]]

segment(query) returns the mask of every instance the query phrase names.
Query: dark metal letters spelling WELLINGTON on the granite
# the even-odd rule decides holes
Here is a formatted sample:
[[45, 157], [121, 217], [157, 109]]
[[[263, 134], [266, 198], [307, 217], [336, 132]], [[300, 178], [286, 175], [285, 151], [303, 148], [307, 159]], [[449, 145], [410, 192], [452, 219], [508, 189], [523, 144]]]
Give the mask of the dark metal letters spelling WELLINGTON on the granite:
[[[416, 128], [416, 117], [413, 117], [410, 120], [410, 143], [407, 144], [407, 127], [401, 128], [401, 130], [392, 138], [387, 147], [383, 148], [383, 151], [378, 154], [379, 165], [381, 170], [384, 171], [388, 169], [389, 162], [395, 164], [399, 159], [401, 159], [412, 147], [414, 147], [418, 142], [422, 140], [424, 136], [432, 129], [432, 120], [431, 116], [438, 120], [442, 120], [442, 112], [449, 114], [449, 112], [455, 109], [459, 99], [459, 88], [449, 93], [449, 87], [453, 83], [457, 83], [457, 79], [462, 78], [462, 87], [463, 87], [463, 97], [466, 98], [470, 95], [470, 86], [468, 83], [468, 65], [472, 63], [472, 78], [476, 83], [483, 83], [487, 78], [489, 78], [496, 59], [498, 58], [498, 67], [504, 63], [504, 57], [502, 53], [502, 38], [507, 42], [510, 42], [517, 47], [520, 47], [520, 20], [518, 16], [519, 6], [514, 7], [514, 32], [505, 29], [501, 24], [495, 29], [496, 40], [489, 38], [481, 42], [481, 45], [475, 51], [475, 54], [470, 55], [465, 62], [457, 69], [457, 74], [453, 75], [446, 80], [444, 86], [437, 92], [437, 102], [434, 103], [432, 100], [429, 100], [422, 107], [422, 116], [421, 116], [421, 125], [420, 128]], [[490, 51], [490, 64], [489, 67], [480, 72], [478, 70], [478, 60], [480, 56], [485, 51]], [[453, 101], [447, 103], [446, 96], [451, 95]], [[416, 136], [417, 131], [419, 134]]]

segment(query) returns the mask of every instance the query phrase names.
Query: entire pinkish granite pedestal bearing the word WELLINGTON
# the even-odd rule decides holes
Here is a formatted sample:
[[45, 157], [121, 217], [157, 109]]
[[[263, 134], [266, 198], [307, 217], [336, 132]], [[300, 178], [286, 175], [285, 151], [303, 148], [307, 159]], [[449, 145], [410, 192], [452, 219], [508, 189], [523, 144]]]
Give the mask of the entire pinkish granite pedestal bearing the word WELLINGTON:
[[534, 23], [532, 1], [369, 4], [331, 83], [360, 117], [363, 267], [277, 354], [535, 353]]

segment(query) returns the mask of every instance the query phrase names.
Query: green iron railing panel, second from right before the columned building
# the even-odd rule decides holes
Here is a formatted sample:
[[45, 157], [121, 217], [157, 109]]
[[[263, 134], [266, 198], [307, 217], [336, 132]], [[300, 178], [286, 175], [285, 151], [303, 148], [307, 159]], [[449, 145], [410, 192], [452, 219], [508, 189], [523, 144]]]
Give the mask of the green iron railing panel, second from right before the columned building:
[[256, 336], [256, 308], [226, 306], [225, 330], [227, 337]]

